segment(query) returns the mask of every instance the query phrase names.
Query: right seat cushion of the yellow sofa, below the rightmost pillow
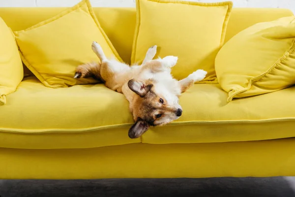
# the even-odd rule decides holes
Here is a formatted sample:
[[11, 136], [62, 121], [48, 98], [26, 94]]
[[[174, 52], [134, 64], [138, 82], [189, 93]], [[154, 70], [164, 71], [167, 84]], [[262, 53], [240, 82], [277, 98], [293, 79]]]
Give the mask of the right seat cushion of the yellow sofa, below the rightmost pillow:
[[143, 143], [205, 143], [295, 137], [295, 87], [227, 102], [219, 84], [195, 84], [180, 98], [182, 116], [155, 127]]

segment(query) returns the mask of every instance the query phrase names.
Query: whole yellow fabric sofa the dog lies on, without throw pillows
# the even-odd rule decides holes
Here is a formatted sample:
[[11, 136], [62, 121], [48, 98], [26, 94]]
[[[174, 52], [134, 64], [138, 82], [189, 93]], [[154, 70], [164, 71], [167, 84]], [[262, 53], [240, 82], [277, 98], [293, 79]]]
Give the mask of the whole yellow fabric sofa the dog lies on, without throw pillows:
[[[0, 8], [23, 30], [64, 8]], [[129, 63], [134, 8], [94, 8]], [[288, 9], [234, 8], [226, 41]], [[218, 84], [196, 84], [181, 96], [183, 115], [130, 139], [123, 95], [103, 84], [52, 89], [25, 69], [0, 106], [0, 179], [295, 176], [295, 87], [227, 102]], [[100, 117], [100, 118], [98, 118]]]

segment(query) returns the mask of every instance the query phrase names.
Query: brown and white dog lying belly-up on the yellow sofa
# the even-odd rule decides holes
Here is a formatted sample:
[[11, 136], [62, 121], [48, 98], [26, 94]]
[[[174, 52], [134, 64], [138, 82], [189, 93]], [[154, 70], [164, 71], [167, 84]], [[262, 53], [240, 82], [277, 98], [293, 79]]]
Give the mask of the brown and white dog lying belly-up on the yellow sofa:
[[171, 75], [171, 68], [177, 64], [178, 58], [166, 56], [153, 60], [157, 46], [148, 49], [141, 66], [107, 59], [97, 42], [92, 43], [92, 50], [100, 63], [78, 66], [74, 78], [98, 78], [106, 87], [125, 96], [135, 121], [128, 132], [130, 138], [140, 137], [150, 126], [162, 126], [177, 120], [182, 115], [180, 94], [207, 74], [199, 69], [177, 81]]

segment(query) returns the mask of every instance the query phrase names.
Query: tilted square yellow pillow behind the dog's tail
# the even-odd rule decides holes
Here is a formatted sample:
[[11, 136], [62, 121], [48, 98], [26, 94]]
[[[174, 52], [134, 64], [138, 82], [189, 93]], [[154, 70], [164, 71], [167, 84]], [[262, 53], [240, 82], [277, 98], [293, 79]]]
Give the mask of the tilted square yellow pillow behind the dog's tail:
[[73, 78], [76, 66], [99, 61], [91, 50], [93, 41], [102, 46], [107, 56], [121, 61], [101, 29], [89, 0], [82, 0], [53, 18], [14, 33], [24, 64], [47, 87], [95, 83], [92, 78]]

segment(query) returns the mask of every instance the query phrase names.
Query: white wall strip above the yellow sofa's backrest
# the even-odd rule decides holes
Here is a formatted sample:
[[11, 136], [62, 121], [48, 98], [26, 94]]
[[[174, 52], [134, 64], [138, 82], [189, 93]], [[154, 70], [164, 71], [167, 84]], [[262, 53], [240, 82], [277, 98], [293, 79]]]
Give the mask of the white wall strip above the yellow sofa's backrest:
[[[80, 0], [0, 0], [0, 7], [69, 7]], [[216, 2], [224, 0], [193, 0]], [[232, 0], [235, 7], [281, 7], [295, 12], [295, 0]], [[135, 0], [91, 0], [94, 7], [134, 7]]]

